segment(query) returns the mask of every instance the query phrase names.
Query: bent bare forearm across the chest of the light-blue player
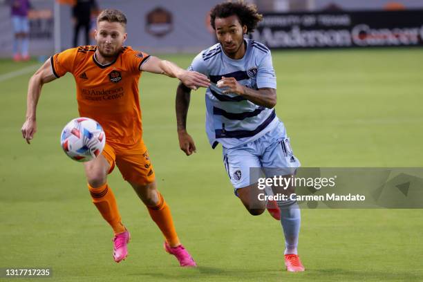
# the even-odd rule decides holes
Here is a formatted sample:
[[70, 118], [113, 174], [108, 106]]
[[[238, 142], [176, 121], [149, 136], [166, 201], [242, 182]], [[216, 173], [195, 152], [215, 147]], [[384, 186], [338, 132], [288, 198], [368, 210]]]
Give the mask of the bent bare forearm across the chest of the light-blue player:
[[272, 109], [276, 106], [276, 89], [259, 88], [257, 90], [239, 84], [234, 77], [222, 77], [218, 82], [218, 88], [225, 88], [223, 94], [234, 93], [259, 106]]

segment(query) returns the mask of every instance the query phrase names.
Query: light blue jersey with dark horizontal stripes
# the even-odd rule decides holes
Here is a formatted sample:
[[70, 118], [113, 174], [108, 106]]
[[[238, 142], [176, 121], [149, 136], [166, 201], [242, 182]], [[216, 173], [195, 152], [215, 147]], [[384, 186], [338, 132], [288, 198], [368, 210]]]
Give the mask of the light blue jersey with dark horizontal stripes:
[[189, 69], [204, 73], [212, 85], [206, 91], [206, 131], [213, 148], [218, 143], [233, 148], [252, 142], [278, 124], [274, 109], [258, 106], [244, 97], [232, 93], [223, 94], [216, 83], [224, 77], [235, 77], [249, 88], [274, 88], [276, 77], [270, 50], [263, 44], [244, 39], [247, 50], [242, 59], [231, 59], [222, 46], [214, 46], [198, 54]]

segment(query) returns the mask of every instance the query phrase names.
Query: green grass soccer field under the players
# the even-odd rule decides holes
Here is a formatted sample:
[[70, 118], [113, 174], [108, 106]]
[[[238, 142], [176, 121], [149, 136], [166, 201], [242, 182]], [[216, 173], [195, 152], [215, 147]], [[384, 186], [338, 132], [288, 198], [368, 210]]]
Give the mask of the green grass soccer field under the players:
[[[187, 67], [193, 55], [164, 57]], [[274, 52], [273, 59], [276, 112], [303, 167], [423, 167], [422, 49]], [[36, 64], [0, 62], [0, 77]], [[111, 229], [91, 203], [82, 164], [59, 146], [62, 127], [77, 116], [73, 77], [44, 86], [28, 146], [20, 128], [29, 77], [0, 82], [0, 267], [52, 267], [51, 281], [423, 281], [420, 209], [303, 209], [299, 253], [307, 271], [285, 272], [280, 224], [247, 214], [221, 148], [209, 147], [205, 91], [191, 97], [197, 153], [187, 158], [176, 134], [178, 82], [148, 73], [140, 80], [144, 140], [199, 267], [182, 269], [162, 250], [158, 228], [118, 170], [109, 184], [133, 239], [128, 259], [114, 263]]]

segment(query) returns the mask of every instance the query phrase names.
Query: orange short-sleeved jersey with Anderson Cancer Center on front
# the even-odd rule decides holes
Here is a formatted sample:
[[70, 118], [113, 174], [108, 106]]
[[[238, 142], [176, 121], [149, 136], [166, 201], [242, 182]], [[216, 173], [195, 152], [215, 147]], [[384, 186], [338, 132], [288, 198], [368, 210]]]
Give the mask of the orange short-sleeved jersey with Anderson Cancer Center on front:
[[[79, 46], [51, 57], [53, 73], [72, 73], [77, 85], [79, 115], [99, 122], [107, 142], [130, 146], [142, 139], [138, 80], [149, 55], [123, 47], [106, 65], [95, 59], [97, 46]], [[126, 147], [125, 146], [125, 147]]]

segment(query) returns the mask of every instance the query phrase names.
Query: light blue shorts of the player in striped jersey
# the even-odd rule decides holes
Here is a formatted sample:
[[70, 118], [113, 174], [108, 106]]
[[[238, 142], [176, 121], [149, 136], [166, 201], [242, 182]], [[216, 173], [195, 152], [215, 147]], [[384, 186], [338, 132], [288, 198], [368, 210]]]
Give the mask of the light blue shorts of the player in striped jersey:
[[301, 166], [282, 122], [261, 138], [234, 148], [223, 147], [223, 163], [235, 190], [266, 177], [294, 174]]

